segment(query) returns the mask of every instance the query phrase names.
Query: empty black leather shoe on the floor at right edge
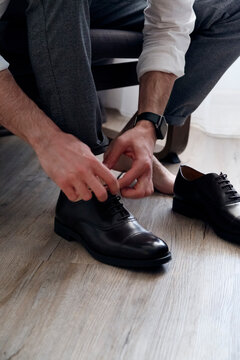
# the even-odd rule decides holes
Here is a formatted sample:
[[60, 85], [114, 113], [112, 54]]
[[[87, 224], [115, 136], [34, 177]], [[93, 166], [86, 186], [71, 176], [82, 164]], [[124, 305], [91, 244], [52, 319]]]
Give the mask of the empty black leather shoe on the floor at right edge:
[[202, 174], [181, 166], [174, 184], [173, 211], [199, 218], [221, 238], [240, 243], [240, 194], [225, 174]]

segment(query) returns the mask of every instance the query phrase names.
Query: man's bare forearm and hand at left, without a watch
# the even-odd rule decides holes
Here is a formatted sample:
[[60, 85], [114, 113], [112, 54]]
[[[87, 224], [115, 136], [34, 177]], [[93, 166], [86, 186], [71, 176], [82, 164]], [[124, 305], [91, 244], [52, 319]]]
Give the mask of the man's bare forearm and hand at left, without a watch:
[[106, 186], [117, 194], [111, 171], [75, 136], [62, 132], [16, 84], [8, 70], [0, 71], [0, 124], [28, 142], [47, 175], [71, 201], [107, 199]]

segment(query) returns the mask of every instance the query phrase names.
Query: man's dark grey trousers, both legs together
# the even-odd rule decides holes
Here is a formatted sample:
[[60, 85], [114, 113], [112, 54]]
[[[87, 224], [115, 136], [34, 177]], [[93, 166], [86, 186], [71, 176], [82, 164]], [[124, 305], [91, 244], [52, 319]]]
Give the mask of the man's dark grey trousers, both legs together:
[[[91, 72], [90, 27], [141, 31], [146, 0], [28, 0], [29, 53], [45, 112], [97, 154], [107, 140]], [[240, 55], [240, 1], [196, 0], [196, 26], [166, 108], [181, 125]]]

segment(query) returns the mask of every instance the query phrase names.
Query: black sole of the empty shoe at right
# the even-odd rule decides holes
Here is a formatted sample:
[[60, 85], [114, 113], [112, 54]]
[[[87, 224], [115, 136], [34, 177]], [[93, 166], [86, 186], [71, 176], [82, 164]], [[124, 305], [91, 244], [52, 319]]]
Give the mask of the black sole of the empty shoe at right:
[[220, 229], [216, 224], [211, 223], [207, 218], [205, 218], [200, 212], [196, 211], [191, 204], [173, 198], [172, 210], [178, 214], [187, 216], [192, 219], [199, 219], [207, 223], [215, 234], [222, 238], [223, 240], [240, 243], [240, 234], [234, 234]]

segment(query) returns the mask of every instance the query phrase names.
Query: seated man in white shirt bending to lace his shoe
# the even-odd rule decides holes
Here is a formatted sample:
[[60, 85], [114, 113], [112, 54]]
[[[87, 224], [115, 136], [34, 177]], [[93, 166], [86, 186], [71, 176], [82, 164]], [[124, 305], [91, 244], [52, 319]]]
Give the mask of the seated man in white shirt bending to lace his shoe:
[[[159, 116], [167, 106], [167, 121], [182, 124], [239, 56], [237, 1], [219, 5], [197, 0], [186, 75], [172, 91], [184, 75], [195, 22], [193, 2], [148, 2], [137, 69], [139, 114]], [[141, 31], [146, 5], [146, 0], [0, 0], [0, 123], [33, 147], [43, 169], [62, 189], [55, 231], [81, 241], [95, 258], [120, 266], [170, 260], [167, 245], [143, 229], [114, 196], [120, 189], [130, 198], [152, 193], [158, 133], [143, 116], [111, 143], [103, 164], [95, 158], [107, 141], [91, 73], [89, 28]], [[123, 154], [132, 165], [117, 181], [110, 169]], [[173, 177], [154, 164], [154, 185], [172, 192]]]

